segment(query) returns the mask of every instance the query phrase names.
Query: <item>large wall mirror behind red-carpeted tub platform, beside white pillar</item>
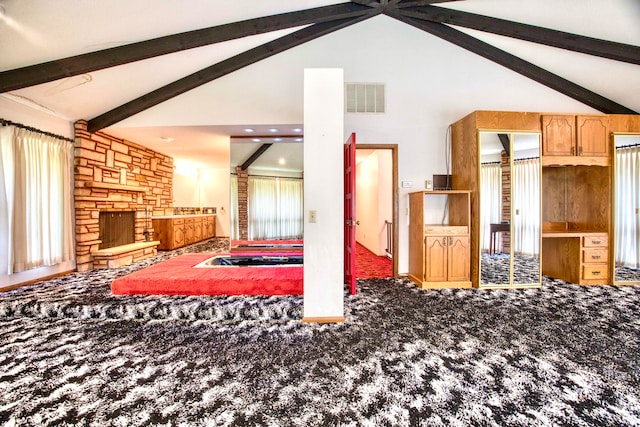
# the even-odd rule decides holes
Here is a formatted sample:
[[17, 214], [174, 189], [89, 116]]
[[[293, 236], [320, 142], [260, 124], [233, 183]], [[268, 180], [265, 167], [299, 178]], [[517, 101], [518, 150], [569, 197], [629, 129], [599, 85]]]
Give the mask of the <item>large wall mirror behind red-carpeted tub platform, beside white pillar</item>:
[[232, 138], [231, 241], [303, 239], [302, 137]]

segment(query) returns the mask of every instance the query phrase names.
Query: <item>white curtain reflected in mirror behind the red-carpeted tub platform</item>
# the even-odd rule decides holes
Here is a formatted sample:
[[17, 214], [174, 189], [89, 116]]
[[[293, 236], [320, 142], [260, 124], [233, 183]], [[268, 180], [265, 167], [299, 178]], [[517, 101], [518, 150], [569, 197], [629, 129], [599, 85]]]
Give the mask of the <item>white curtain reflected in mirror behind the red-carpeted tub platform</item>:
[[249, 239], [302, 238], [302, 180], [249, 176], [248, 184]]

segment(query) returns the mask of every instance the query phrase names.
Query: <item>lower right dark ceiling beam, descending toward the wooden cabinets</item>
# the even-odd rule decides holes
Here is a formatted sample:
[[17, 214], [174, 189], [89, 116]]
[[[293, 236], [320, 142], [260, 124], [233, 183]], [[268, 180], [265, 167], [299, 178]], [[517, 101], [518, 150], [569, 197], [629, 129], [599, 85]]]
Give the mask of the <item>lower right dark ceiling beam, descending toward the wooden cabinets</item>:
[[515, 55], [491, 46], [488, 43], [471, 37], [462, 31], [451, 28], [437, 22], [415, 19], [405, 16], [403, 12], [393, 15], [395, 18], [434, 36], [440, 37], [463, 49], [473, 52], [483, 58], [489, 59], [516, 73], [522, 74], [540, 84], [569, 96], [605, 114], [638, 114], [630, 108], [620, 105], [615, 101], [598, 95], [582, 86], [579, 86], [565, 78], [553, 74], [535, 64], [527, 62]]

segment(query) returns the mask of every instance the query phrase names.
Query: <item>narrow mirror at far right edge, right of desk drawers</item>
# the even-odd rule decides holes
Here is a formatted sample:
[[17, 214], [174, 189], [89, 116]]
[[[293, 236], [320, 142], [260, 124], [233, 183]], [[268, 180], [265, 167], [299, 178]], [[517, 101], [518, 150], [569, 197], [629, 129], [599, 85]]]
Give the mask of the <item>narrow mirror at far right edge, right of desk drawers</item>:
[[615, 135], [615, 282], [640, 283], [640, 135]]

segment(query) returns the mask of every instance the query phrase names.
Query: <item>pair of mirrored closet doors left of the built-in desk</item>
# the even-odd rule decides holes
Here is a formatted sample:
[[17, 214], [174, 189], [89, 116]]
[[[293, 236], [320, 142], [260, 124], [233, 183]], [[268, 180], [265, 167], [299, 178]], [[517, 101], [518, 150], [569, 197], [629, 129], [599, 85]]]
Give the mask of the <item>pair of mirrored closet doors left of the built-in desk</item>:
[[480, 286], [541, 283], [540, 134], [479, 132]]

